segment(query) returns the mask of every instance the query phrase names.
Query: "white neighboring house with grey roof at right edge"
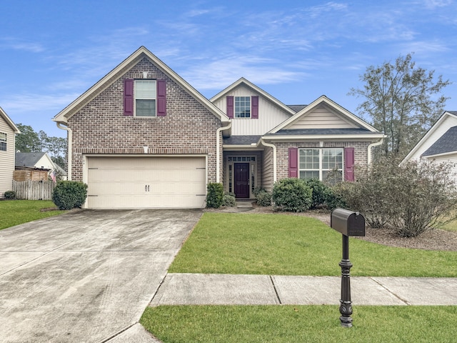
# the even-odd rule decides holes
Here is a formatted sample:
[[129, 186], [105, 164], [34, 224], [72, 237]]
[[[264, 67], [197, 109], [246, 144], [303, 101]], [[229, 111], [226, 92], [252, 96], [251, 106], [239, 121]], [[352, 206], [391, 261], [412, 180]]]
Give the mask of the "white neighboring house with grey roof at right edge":
[[457, 182], [457, 111], [445, 111], [402, 163], [420, 159], [453, 163], [451, 174]]

